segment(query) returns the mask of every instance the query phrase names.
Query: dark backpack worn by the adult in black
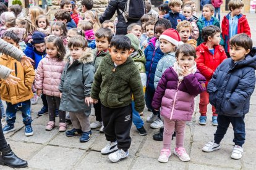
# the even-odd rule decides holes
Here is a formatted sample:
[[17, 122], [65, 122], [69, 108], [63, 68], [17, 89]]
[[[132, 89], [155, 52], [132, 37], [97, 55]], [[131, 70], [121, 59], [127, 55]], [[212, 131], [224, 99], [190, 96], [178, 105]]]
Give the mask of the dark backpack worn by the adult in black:
[[124, 11], [121, 9], [118, 10], [126, 22], [128, 22], [128, 20], [140, 20], [145, 14], [144, 0], [127, 0]]

